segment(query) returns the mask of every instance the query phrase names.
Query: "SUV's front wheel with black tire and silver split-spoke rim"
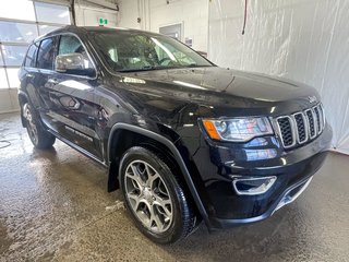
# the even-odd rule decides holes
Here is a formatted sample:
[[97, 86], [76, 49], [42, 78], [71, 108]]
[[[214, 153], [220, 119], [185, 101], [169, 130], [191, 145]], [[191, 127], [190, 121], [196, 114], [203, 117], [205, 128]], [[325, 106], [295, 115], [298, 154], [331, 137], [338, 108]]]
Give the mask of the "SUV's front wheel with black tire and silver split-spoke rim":
[[157, 243], [172, 243], [195, 226], [193, 210], [169, 166], [135, 146], [122, 157], [122, 194], [136, 227]]

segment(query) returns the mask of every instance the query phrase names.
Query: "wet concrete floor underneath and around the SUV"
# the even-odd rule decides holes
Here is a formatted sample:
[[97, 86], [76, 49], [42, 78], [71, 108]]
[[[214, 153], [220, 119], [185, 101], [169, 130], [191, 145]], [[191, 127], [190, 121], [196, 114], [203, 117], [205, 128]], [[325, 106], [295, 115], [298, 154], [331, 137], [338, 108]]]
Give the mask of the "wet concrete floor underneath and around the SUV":
[[[0, 261], [349, 261], [349, 157], [330, 154], [308, 190], [267, 221], [156, 246], [106, 191], [105, 170], [61, 142], [33, 150], [0, 116]], [[0, 142], [0, 147], [7, 143]]]

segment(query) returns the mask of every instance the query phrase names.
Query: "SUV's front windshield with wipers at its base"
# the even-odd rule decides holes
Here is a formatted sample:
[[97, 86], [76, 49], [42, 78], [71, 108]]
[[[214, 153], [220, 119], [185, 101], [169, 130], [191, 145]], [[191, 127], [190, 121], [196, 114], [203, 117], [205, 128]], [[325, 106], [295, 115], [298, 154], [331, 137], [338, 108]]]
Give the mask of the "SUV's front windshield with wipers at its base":
[[130, 31], [96, 32], [96, 45], [113, 71], [213, 67], [205, 58], [167, 36]]

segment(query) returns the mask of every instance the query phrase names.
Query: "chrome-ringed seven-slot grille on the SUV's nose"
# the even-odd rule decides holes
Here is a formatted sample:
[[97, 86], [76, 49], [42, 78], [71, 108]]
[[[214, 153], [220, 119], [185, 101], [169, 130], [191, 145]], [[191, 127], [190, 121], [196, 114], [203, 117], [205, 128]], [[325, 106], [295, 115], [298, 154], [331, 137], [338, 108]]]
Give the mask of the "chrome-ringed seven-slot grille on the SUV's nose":
[[321, 104], [304, 111], [276, 119], [285, 148], [291, 148], [317, 138], [325, 127], [325, 115]]

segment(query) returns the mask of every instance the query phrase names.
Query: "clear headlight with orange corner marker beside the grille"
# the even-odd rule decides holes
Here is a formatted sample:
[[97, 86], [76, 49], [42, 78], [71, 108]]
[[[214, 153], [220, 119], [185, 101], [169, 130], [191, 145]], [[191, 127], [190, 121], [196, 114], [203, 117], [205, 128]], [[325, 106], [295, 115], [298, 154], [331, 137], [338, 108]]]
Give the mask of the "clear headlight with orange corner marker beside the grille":
[[203, 124], [214, 140], [244, 142], [255, 136], [273, 134], [270, 122], [265, 117], [203, 119]]

